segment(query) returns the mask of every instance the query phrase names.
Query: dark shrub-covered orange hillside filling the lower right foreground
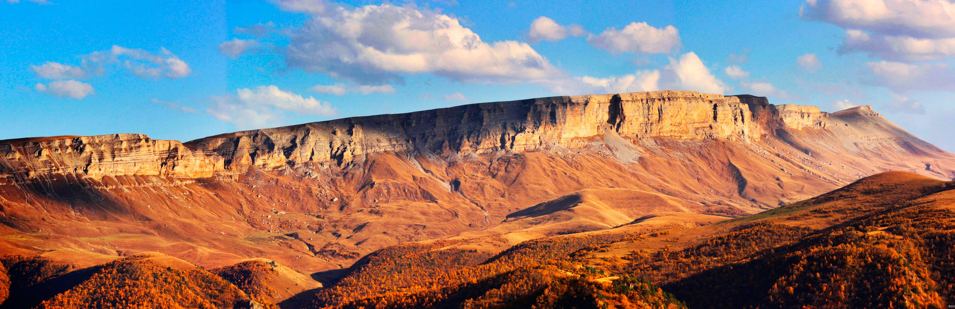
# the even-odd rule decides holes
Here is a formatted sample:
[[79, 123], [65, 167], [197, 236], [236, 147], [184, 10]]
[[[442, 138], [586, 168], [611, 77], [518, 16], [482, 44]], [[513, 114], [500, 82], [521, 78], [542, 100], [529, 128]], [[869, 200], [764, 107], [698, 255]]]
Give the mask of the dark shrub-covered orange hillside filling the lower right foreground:
[[[955, 181], [892, 172], [758, 216], [529, 240], [483, 262], [446, 243], [393, 247], [313, 307], [943, 308], [953, 205]], [[620, 293], [634, 286], [644, 292]]]

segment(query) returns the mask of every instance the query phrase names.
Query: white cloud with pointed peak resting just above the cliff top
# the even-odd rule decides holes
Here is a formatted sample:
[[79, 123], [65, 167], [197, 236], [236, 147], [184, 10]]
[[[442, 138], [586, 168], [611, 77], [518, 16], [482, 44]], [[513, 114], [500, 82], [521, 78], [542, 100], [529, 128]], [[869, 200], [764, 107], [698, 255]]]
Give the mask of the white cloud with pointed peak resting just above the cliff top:
[[592, 77], [579, 76], [555, 80], [551, 85], [556, 93], [637, 93], [661, 90], [685, 90], [700, 93], [725, 93], [723, 81], [713, 76], [710, 69], [695, 52], [687, 52], [661, 70], [646, 70], [632, 74]]

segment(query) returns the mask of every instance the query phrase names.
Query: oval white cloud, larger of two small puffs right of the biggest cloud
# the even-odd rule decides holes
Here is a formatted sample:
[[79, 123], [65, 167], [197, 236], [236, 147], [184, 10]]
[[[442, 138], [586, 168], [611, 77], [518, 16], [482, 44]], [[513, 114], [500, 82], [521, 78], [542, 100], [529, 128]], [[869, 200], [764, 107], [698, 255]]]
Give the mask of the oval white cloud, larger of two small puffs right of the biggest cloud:
[[591, 34], [587, 42], [607, 51], [666, 53], [680, 46], [680, 32], [673, 26], [654, 28], [646, 22], [634, 22], [623, 30], [609, 28], [600, 35]]

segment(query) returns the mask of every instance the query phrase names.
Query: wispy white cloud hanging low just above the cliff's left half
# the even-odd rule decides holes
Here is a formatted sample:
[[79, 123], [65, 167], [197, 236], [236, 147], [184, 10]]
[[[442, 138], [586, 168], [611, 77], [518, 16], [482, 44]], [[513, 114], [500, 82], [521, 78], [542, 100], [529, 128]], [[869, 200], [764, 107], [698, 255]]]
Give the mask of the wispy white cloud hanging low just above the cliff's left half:
[[244, 130], [280, 125], [288, 113], [331, 116], [337, 112], [328, 102], [314, 97], [285, 92], [276, 86], [259, 86], [213, 96], [206, 113]]

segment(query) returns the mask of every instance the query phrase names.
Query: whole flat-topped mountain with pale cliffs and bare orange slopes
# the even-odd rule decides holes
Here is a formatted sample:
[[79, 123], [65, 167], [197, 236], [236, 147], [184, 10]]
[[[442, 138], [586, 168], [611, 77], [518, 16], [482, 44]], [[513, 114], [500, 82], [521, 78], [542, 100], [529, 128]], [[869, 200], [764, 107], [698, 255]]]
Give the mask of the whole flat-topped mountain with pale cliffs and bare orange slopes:
[[[0, 255], [88, 269], [158, 252], [254, 287], [234, 299], [286, 307], [302, 302], [290, 296], [316, 291], [316, 305], [380, 297], [348, 285], [369, 284], [354, 276], [375, 274], [375, 257], [450, 255], [456, 264], [438, 263], [446, 269], [523, 267], [481, 277], [490, 286], [562, 281], [553, 276], [579, 270], [526, 268], [547, 258], [528, 259], [540, 254], [535, 246], [563, 246], [548, 255], [564, 256], [631, 240], [650, 249], [662, 238], [634, 237], [710, 231], [868, 175], [955, 177], [955, 155], [869, 106], [825, 113], [752, 95], [673, 91], [479, 103], [185, 143], [144, 134], [18, 138], [0, 141], [0, 158]], [[288, 269], [267, 273], [273, 267], [250, 258]], [[627, 286], [671, 286], [638, 278], [625, 278]], [[377, 286], [399, 285], [390, 284]], [[604, 291], [589, 280], [574, 284], [567, 293]], [[423, 291], [415, 289], [393, 296]], [[681, 296], [607, 291], [603, 298], [634, 303]]]

